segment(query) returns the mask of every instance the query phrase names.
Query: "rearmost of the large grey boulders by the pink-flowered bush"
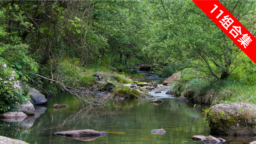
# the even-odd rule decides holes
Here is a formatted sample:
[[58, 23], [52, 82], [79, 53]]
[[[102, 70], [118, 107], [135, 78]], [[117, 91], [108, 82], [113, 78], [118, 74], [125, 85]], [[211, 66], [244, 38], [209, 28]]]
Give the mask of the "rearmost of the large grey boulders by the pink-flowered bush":
[[30, 102], [33, 105], [47, 104], [45, 95], [40, 94], [40, 92], [37, 91], [35, 88], [29, 88], [28, 95], [31, 96], [32, 100], [30, 100]]

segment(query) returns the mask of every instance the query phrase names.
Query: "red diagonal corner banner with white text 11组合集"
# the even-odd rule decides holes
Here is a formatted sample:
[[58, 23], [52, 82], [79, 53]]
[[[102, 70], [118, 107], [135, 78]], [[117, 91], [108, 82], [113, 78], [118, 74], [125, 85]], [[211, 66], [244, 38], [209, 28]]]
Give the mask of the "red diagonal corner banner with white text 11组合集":
[[256, 38], [218, 0], [193, 2], [256, 63]]

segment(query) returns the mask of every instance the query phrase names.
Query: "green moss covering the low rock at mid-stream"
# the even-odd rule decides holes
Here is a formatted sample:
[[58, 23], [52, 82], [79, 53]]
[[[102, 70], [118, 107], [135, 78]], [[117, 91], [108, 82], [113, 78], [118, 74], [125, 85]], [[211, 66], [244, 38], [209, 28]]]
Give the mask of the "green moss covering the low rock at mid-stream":
[[140, 93], [135, 89], [129, 87], [118, 86], [114, 89], [114, 96], [124, 97], [124, 98], [139, 98], [141, 97]]

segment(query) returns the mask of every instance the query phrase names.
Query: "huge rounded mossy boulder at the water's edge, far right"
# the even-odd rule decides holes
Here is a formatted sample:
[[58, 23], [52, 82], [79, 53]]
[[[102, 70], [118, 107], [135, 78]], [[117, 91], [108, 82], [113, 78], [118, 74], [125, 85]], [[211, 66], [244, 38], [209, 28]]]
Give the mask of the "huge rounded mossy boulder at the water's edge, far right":
[[255, 105], [234, 102], [217, 104], [206, 113], [212, 134], [216, 135], [256, 135]]

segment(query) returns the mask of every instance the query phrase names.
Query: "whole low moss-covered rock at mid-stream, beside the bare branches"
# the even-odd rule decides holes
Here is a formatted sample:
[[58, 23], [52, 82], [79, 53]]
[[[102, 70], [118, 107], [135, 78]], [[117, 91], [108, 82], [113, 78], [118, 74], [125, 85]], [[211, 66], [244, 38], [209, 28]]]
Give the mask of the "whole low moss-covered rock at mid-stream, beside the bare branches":
[[145, 91], [140, 91], [140, 89], [133, 89], [128, 87], [118, 86], [114, 89], [114, 96], [122, 97], [122, 98], [146, 98], [152, 97], [152, 95], [148, 94]]

